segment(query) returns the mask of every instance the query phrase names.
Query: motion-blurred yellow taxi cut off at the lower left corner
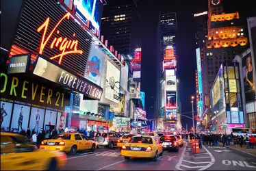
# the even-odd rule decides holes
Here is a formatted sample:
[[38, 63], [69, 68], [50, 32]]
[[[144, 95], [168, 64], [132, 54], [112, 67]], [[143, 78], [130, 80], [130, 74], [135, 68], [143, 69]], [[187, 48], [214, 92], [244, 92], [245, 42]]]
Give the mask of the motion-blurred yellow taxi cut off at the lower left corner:
[[16, 133], [1, 133], [1, 170], [57, 170], [66, 165], [66, 154], [39, 150]]

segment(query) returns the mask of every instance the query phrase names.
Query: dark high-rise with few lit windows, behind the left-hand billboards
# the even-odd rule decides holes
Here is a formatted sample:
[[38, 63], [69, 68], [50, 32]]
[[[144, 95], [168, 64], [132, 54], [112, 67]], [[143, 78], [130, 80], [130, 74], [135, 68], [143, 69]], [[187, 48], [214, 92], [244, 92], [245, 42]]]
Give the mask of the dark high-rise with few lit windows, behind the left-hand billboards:
[[107, 44], [125, 58], [132, 58], [141, 47], [141, 18], [136, 1], [110, 1], [104, 6], [101, 18], [101, 36]]

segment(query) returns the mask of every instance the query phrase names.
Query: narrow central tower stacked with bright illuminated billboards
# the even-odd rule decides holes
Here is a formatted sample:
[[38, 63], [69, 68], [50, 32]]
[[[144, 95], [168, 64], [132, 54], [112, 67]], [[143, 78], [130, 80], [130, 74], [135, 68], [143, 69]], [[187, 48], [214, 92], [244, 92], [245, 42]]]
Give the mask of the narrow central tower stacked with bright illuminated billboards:
[[[159, 114], [157, 128], [166, 131], [181, 127], [180, 116], [177, 114], [177, 16], [175, 12], [160, 14], [158, 34], [160, 39], [159, 47]], [[180, 114], [180, 113], [179, 113]], [[179, 118], [179, 120], [177, 120]], [[177, 124], [177, 122], [179, 124]], [[158, 126], [160, 125], [160, 126]]]

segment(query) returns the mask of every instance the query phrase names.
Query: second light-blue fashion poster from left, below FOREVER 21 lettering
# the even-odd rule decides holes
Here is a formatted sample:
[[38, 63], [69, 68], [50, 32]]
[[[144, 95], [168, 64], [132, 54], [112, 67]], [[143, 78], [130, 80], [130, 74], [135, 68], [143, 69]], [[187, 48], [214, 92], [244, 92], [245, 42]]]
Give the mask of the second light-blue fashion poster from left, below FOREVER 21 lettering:
[[27, 131], [29, 123], [30, 106], [14, 104], [11, 128]]

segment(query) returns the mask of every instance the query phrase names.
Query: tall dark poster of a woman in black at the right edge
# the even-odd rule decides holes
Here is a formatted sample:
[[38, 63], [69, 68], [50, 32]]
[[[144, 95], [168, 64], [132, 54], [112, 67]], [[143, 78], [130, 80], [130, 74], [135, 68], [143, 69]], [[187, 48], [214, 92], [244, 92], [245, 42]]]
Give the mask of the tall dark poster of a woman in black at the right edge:
[[244, 92], [246, 102], [255, 101], [255, 81], [253, 77], [253, 68], [251, 53], [248, 53], [242, 58], [243, 77], [244, 77]]

